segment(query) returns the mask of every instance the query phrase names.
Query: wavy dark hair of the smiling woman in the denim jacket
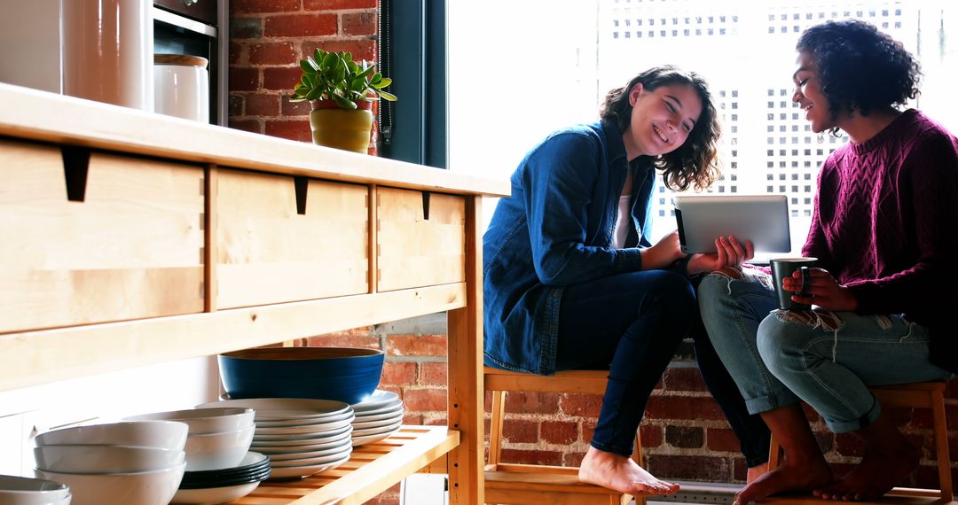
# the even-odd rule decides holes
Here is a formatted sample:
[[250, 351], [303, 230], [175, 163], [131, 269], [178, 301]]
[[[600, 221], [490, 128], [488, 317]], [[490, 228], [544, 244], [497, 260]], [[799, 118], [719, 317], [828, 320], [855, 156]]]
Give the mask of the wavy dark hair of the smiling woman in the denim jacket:
[[632, 115], [628, 92], [640, 82], [650, 91], [673, 84], [684, 84], [696, 90], [698, 98], [702, 100], [702, 113], [689, 138], [678, 149], [656, 157], [652, 164], [662, 170], [666, 187], [675, 191], [684, 191], [690, 185], [695, 185], [696, 190], [712, 186], [720, 175], [717, 144], [721, 126], [705, 79], [672, 65], [651, 68], [632, 77], [625, 86], [609, 91], [599, 108], [599, 116], [603, 120], [615, 122], [619, 130], [626, 131]]

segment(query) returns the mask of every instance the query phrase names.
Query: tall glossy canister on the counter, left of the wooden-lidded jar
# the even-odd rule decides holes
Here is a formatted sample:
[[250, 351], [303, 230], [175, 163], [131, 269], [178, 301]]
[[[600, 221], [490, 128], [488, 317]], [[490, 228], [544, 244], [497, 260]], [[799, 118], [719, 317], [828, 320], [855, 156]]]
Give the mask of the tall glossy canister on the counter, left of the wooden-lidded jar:
[[153, 110], [153, 13], [146, 0], [62, 0], [63, 93]]

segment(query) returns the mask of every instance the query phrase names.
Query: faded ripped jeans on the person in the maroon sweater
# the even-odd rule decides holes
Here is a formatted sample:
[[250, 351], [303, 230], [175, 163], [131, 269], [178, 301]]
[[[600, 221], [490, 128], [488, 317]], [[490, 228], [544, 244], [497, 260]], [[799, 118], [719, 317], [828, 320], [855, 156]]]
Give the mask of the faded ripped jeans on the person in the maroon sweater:
[[927, 330], [901, 316], [782, 311], [771, 277], [709, 274], [702, 320], [750, 413], [804, 401], [835, 433], [864, 428], [881, 406], [870, 385], [954, 377], [928, 361]]

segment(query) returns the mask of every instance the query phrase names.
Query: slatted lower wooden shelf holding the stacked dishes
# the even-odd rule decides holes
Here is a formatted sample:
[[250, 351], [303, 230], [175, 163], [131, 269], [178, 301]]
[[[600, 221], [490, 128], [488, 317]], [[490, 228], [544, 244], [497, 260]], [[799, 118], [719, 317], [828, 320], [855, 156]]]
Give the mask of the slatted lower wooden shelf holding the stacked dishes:
[[301, 480], [266, 481], [237, 505], [358, 505], [386, 491], [459, 445], [459, 431], [403, 426], [389, 438], [355, 448], [345, 464]]

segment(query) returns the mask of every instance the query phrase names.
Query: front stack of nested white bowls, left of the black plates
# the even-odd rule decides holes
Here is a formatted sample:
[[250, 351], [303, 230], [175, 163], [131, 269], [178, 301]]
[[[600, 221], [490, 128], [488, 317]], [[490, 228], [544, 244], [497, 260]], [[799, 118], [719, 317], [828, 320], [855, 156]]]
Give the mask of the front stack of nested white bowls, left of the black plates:
[[70, 487], [74, 505], [170, 502], [186, 471], [188, 428], [171, 421], [62, 428], [36, 436], [37, 478]]

